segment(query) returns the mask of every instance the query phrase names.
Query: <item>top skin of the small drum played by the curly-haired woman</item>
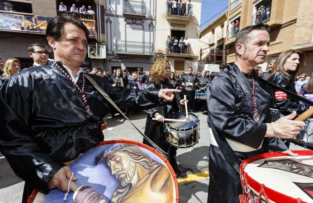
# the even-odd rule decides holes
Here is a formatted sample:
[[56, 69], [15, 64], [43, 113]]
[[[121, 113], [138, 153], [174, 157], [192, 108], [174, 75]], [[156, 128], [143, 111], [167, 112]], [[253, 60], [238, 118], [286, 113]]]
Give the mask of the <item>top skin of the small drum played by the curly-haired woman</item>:
[[188, 113], [188, 118], [186, 119], [186, 113], [175, 113], [168, 118], [170, 119], [179, 119], [179, 120], [184, 120], [186, 119], [187, 122], [176, 122], [172, 121], [169, 122], [168, 125], [170, 128], [175, 129], [177, 131], [184, 131], [184, 130], [190, 130], [192, 127], [195, 127], [198, 125], [198, 118], [196, 115], [192, 113]]

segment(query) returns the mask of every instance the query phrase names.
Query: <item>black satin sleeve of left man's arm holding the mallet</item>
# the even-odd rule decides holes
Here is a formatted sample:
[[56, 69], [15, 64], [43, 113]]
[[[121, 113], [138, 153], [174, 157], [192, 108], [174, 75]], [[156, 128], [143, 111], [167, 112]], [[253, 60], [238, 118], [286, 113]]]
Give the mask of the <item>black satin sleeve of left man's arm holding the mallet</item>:
[[0, 151], [14, 173], [42, 193], [52, 176], [64, 165], [51, 158], [36, 142], [32, 124], [32, 75], [10, 77], [0, 89]]

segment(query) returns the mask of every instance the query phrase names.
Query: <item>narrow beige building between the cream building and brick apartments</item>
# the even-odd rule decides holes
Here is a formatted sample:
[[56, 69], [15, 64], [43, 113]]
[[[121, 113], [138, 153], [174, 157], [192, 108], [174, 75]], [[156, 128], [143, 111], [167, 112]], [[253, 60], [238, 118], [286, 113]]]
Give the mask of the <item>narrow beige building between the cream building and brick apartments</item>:
[[223, 12], [200, 32], [199, 61], [225, 64], [225, 37], [227, 32], [227, 11]]

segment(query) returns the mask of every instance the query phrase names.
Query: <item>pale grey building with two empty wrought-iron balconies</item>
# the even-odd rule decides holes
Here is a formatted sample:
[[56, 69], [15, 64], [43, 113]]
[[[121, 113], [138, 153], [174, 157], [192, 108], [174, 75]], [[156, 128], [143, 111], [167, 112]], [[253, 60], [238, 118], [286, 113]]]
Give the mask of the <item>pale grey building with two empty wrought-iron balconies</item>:
[[154, 57], [156, 0], [105, 0], [107, 70], [151, 69]]

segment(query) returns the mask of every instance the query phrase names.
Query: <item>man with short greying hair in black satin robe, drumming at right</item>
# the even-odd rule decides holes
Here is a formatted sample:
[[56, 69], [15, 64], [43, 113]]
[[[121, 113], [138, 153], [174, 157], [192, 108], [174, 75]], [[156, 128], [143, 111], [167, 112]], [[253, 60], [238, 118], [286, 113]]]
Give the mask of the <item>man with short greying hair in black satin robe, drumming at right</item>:
[[208, 86], [207, 122], [212, 129], [208, 202], [239, 202], [240, 163], [270, 151], [297, 156], [278, 137], [294, 138], [305, 126], [302, 121], [292, 121], [295, 111], [270, 123], [270, 96], [253, 71], [269, 51], [269, 26], [257, 24], [240, 30], [235, 49], [234, 64]]

